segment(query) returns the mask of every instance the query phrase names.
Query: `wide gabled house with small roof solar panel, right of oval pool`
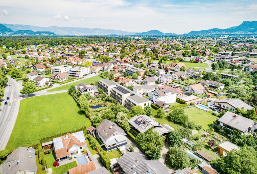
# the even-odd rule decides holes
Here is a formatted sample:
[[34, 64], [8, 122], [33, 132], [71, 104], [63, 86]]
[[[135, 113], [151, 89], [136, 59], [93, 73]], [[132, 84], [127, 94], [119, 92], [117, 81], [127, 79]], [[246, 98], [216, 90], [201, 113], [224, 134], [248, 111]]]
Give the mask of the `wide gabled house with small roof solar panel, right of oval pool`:
[[240, 99], [229, 99], [229, 98], [224, 98], [220, 100], [214, 101], [215, 108], [217, 108], [220, 112], [226, 110], [226, 109], [233, 109], [234, 112], [236, 111], [237, 108], [244, 110], [252, 109], [252, 106], [244, 103]]

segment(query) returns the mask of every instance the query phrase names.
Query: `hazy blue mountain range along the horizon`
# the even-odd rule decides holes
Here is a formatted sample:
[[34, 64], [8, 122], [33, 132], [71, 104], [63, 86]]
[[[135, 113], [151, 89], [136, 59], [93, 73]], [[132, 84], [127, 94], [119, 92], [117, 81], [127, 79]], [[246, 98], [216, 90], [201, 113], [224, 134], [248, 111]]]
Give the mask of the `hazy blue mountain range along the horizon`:
[[[224, 34], [257, 34], [257, 21], [243, 21], [242, 24], [227, 29], [190, 31], [183, 35], [224, 35]], [[162, 33], [158, 30], [136, 33], [114, 29], [82, 27], [38, 27], [34, 25], [0, 24], [0, 35], [33, 36], [33, 35], [130, 35], [130, 36], [176, 36], [175, 33]]]

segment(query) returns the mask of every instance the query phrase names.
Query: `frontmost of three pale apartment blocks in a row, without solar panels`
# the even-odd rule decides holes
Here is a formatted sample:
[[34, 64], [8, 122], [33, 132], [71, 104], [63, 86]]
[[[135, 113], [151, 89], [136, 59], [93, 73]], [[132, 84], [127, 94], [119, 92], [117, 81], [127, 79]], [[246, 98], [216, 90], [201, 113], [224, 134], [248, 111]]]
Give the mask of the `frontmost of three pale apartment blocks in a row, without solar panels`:
[[145, 97], [140, 97], [138, 95], [128, 96], [125, 100], [126, 109], [130, 110], [133, 106], [141, 106], [145, 108], [146, 106], [150, 106], [151, 101]]

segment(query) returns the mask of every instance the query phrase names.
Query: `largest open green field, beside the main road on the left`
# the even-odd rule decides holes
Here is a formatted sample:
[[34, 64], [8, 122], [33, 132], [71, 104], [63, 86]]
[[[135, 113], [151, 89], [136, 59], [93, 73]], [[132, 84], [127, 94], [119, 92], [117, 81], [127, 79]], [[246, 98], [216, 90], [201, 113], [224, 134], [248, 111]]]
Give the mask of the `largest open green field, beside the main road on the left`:
[[45, 136], [91, 126], [75, 100], [68, 93], [23, 99], [11, 137], [10, 150], [38, 143]]

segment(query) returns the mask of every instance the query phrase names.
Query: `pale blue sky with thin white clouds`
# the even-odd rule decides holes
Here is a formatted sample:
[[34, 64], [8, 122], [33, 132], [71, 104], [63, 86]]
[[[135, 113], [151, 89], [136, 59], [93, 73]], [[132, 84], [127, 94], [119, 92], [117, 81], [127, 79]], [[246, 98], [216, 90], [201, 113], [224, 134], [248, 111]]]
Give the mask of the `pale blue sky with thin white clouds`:
[[3, 0], [0, 23], [184, 34], [257, 21], [256, 0]]

